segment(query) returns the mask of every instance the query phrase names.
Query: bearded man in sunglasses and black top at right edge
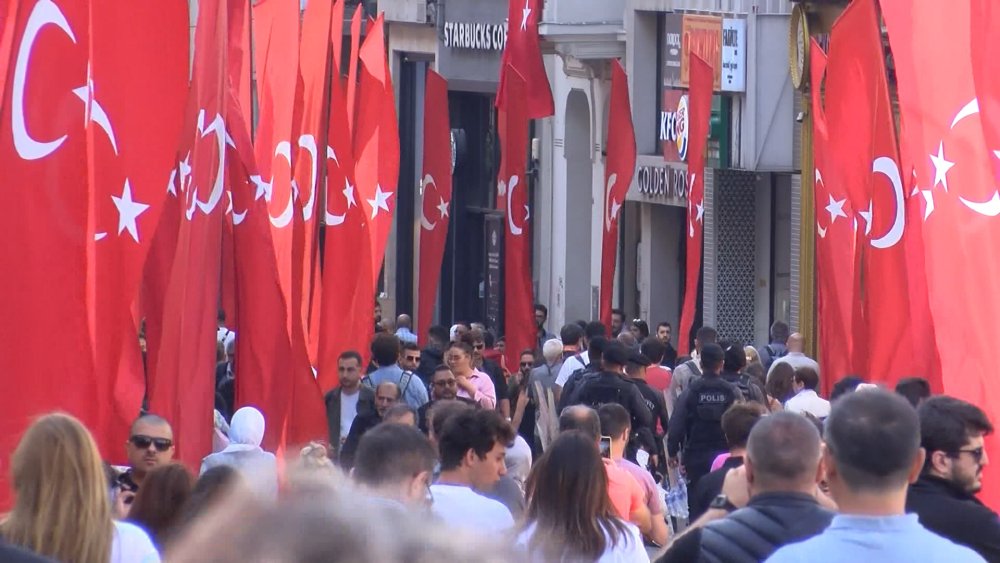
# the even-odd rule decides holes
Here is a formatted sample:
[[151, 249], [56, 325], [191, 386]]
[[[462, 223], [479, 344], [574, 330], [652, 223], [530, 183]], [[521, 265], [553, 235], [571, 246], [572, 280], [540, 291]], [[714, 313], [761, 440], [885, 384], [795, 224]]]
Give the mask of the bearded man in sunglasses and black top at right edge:
[[975, 497], [990, 462], [983, 438], [993, 425], [982, 409], [953, 397], [931, 397], [917, 413], [927, 458], [910, 485], [906, 511], [928, 530], [1000, 561], [1000, 519]]

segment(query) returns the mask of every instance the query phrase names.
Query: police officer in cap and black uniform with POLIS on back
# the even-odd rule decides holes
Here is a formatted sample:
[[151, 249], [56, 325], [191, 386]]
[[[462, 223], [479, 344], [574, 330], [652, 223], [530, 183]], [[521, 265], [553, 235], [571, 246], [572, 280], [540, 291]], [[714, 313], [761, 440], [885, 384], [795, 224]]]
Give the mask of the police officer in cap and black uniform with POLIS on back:
[[725, 452], [722, 413], [740, 400], [740, 390], [722, 379], [725, 355], [718, 344], [706, 344], [701, 350], [702, 376], [677, 399], [667, 433], [667, 454], [671, 467], [678, 464], [677, 454], [684, 447], [684, 472], [688, 487], [707, 475], [716, 455]]

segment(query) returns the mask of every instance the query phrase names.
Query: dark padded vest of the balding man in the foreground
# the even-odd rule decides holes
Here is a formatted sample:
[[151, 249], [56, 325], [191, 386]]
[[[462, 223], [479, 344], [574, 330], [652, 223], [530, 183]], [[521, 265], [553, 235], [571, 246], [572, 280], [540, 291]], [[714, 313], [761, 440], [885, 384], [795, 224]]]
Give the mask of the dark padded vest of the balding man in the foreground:
[[803, 493], [763, 493], [741, 510], [684, 534], [657, 563], [759, 563], [778, 548], [809, 539], [833, 513]]

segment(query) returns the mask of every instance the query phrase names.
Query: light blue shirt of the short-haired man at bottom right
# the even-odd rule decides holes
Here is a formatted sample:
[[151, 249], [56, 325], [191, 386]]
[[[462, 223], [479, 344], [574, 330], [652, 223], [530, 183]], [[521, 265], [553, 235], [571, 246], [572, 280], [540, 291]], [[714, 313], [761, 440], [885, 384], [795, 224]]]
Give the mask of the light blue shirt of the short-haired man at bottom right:
[[952, 543], [920, 525], [916, 514], [833, 517], [822, 534], [787, 545], [767, 559], [786, 562], [942, 563], [982, 562], [967, 547]]

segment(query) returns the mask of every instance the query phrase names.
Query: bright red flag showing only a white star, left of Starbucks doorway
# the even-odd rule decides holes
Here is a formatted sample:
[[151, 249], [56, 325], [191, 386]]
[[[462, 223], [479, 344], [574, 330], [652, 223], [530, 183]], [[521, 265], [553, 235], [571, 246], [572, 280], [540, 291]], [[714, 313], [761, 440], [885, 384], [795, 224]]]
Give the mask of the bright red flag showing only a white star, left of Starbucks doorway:
[[382, 270], [399, 183], [399, 125], [383, 30], [383, 14], [379, 14], [361, 46], [361, 98], [354, 132], [358, 189], [370, 213], [373, 280], [378, 280]]

